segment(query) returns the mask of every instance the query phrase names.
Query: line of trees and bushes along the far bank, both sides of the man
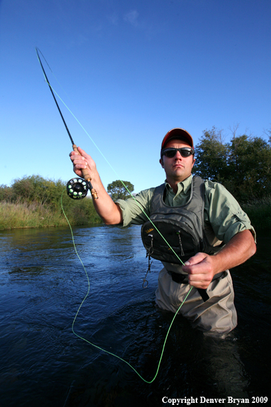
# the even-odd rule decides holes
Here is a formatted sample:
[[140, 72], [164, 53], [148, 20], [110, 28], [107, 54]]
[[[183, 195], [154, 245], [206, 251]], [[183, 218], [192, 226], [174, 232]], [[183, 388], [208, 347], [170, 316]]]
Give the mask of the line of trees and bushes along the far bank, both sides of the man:
[[[262, 219], [257, 219], [257, 223], [262, 225], [271, 225], [271, 130], [267, 132], [267, 136], [268, 140], [246, 134], [237, 136], [236, 126], [232, 130], [231, 140], [225, 143], [222, 131], [216, 127], [205, 130], [195, 146], [196, 162], [193, 168], [195, 175], [223, 184], [240, 204], [246, 206], [245, 210], [250, 217], [261, 216]], [[130, 196], [128, 190], [133, 192], [134, 186], [131, 182], [124, 181], [123, 184], [116, 180], [107, 185], [107, 192], [114, 201], [127, 199]], [[23, 205], [22, 218], [26, 217], [24, 211], [28, 208], [33, 216], [36, 214], [36, 219], [42, 219], [42, 222], [36, 221], [36, 227], [45, 225], [46, 213], [46, 225], [51, 225], [53, 214], [57, 215], [57, 219], [63, 217], [60, 197], [64, 189], [66, 183], [62, 180], [48, 180], [40, 175], [14, 180], [11, 186], [1, 185], [0, 228], [9, 227], [6, 225], [10, 222], [10, 206], [4, 208], [3, 204], [16, 204], [17, 212], [19, 206]], [[101, 222], [94, 210], [92, 199], [77, 201], [70, 199], [66, 193], [62, 198], [71, 224]], [[16, 216], [12, 216], [12, 219], [15, 219]], [[57, 220], [53, 225], [64, 224], [66, 221], [61, 222]]]

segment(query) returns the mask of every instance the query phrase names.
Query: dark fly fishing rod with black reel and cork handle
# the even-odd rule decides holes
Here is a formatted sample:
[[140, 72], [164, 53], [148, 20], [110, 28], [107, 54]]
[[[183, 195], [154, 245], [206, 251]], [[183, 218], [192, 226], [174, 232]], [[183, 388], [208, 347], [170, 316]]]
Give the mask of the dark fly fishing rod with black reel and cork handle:
[[[73, 141], [73, 138], [72, 138], [72, 136], [70, 135], [70, 131], [68, 130], [68, 126], [66, 125], [66, 121], [64, 120], [63, 114], [62, 114], [62, 112], [61, 112], [61, 110], [60, 110], [60, 106], [58, 106], [57, 100], [55, 99], [55, 95], [54, 95], [54, 93], [53, 93], [53, 89], [52, 89], [52, 87], [51, 87], [51, 85], [50, 85], [50, 82], [49, 82], [49, 79], [47, 78], [47, 75], [46, 75], [46, 73], [45, 73], [45, 71], [44, 71], [44, 68], [43, 68], [42, 62], [41, 62], [41, 60], [40, 60], [40, 56], [39, 56], [38, 51], [40, 51], [40, 50], [39, 50], [38, 48], [36, 48], [36, 53], [37, 53], [37, 56], [38, 56], [38, 61], [40, 62], [40, 66], [42, 67], [43, 75], [44, 75], [45, 80], [46, 80], [46, 82], [47, 82], [47, 84], [48, 84], [48, 86], [49, 86], [49, 89], [51, 90], [51, 94], [53, 95], [53, 99], [54, 99], [54, 101], [55, 101], [55, 104], [56, 104], [56, 106], [57, 106], [57, 109], [58, 109], [58, 111], [60, 112], [60, 116], [61, 116], [61, 118], [62, 118], [62, 121], [63, 121], [63, 123], [64, 123], [64, 126], [65, 126], [65, 128], [66, 128], [66, 131], [67, 131], [67, 133], [68, 133], [68, 136], [69, 136], [69, 138], [70, 138], [70, 141], [71, 141], [71, 143], [72, 143], [72, 145], [73, 145], [73, 151], [77, 151], [77, 153], [79, 153], [79, 151], [78, 151], [78, 149], [77, 149], [77, 146], [75, 145], [75, 143], [74, 143], [74, 141]], [[42, 54], [41, 51], [40, 51], [40, 53]], [[43, 58], [44, 58], [44, 57], [43, 57]], [[45, 59], [45, 58], [44, 58], [44, 59]], [[80, 153], [79, 153], [79, 155], [81, 156]], [[91, 193], [91, 195], [92, 195], [92, 198], [93, 198], [93, 199], [98, 199], [98, 195], [97, 195], [97, 193], [96, 193], [96, 190], [93, 188], [93, 186], [92, 186], [92, 184], [91, 184], [91, 177], [90, 177], [90, 174], [88, 173], [88, 170], [87, 170], [87, 169], [81, 169], [81, 171], [82, 171], [82, 173], [83, 173], [83, 179], [82, 179], [82, 178], [75, 177], [75, 178], [72, 178], [70, 181], [68, 181], [67, 186], [66, 186], [68, 196], [69, 196], [70, 198], [72, 198], [72, 199], [82, 199], [82, 198], [86, 197], [86, 195], [88, 194], [88, 190], [90, 190], [90, 193]]]

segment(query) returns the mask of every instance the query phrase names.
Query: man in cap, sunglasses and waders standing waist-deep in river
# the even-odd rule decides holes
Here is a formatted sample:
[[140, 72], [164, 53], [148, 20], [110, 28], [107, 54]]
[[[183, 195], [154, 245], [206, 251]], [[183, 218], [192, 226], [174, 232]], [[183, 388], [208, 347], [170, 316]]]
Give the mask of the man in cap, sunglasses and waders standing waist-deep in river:
[[[156, 304], [176, 312], [193, 286], [179, 312], [203, 331], [222, 334], [233, 330], [237, 314], [229, 269], [255, 254], [255, 231], [245, 212], [222, 185], [192, 178], [195, 162], [192, 136], [181, 128], [170, 130], [162, 141], [159, 160], [166, 172], [165, 184], [144, 190], [135, 199], [118, 199], [116, 203], [105, 191], [92, 158], [78, 150], [81, 156], [75, 151], [70, 153], [74, 171], [82, 176], [81, 169], [90, 169], [92, 185], [99, 196], [93, 204], [106, 225], [139, 225], [151, 216], [154, 222], [163, 225], [166, 238], [175, 225], [177, 229], [181, 225], [175, 240], [185, 265], [181, 266], [177, 256], [172, 257], [168, 247], [166, 253], [162, 243], [156, 249], [156, 258], [164, 264], [158, 277]], [[164, 213], [165, 219], [158, 213]], [[185, 218], [187, 222], [179, 223], [178, 219]], [[155, 244], [153, 234], [148, 236], [152, 239], [151, 247]], [[147, 244], [145, 247], [148, 249]], [[188, 253], [192, 256], [185, 257]]]

